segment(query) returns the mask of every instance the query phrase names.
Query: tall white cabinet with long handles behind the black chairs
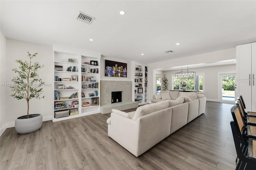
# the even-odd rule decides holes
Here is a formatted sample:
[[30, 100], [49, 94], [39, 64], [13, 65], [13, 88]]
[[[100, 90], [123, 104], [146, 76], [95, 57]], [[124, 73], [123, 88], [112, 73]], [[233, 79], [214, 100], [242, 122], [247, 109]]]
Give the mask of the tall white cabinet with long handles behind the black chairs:
[[247, 111], [256, 111], [256, 43], [236, 46], [236, 97], [242, 95]]

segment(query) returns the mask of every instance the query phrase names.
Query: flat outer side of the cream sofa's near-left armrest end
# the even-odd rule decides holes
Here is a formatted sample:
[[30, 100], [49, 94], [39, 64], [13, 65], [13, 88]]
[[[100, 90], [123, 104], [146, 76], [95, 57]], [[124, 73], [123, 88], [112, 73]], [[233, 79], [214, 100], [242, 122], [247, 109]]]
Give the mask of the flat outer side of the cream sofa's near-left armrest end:
[[111, 113], [108, 136], [136, 156], [138, 151], [139, 121], [134, 121], [117, 113]]

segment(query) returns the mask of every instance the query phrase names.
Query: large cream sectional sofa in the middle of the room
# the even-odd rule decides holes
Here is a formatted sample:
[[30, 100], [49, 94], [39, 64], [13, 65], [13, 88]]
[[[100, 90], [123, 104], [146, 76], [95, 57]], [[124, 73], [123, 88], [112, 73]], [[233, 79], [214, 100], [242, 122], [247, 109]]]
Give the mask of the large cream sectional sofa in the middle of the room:
[[130, 113], [112, 109], [107, 120], [108, 136], [135, 156], [140, 156], [204, 113], [204, 95], [183, 95], [185, 94], [178, 94], [176, 99], [140, 106]]

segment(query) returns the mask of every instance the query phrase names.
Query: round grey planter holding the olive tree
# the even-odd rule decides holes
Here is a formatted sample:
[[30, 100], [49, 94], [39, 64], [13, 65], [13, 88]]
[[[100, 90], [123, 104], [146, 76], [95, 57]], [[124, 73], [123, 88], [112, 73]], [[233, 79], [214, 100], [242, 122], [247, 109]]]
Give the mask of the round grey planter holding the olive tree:
[[43, 117], [40, 114], [32, 114], [18, 117], [15, 120], [15, 130], [18, 134], [34, 132], [41, 128]]

